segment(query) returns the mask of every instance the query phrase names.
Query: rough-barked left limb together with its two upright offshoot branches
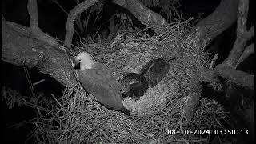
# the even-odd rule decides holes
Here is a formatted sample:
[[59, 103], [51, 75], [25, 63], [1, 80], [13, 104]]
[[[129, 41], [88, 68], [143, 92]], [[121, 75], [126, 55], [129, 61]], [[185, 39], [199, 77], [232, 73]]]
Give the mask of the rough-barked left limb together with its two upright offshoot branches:
[[[66, 46], [71, 46], [74, 18], [95, 2], [97, 0], [90, 3], [82, 2], [71, 10], [66, 25]], [[37, 2], [29, 0], [27, 9], [30, 15], [30, 27], [6, 22], [2, 16], [2, 60], [17, 66], [36, 67], [64, 86], [76, 85], [74, 70], [65, 47], [38, 27]]]

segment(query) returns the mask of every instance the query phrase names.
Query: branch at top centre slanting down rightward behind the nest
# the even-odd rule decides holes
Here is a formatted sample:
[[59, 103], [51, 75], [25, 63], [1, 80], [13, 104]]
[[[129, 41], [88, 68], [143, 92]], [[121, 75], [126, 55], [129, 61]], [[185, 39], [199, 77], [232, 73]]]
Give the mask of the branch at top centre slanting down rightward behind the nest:
[[150, 26], [155, 32], [168, 24], [160, 14], [154, 13], [139, 0], [114, 0], [113, 2], [129, 10], [142, 24]]

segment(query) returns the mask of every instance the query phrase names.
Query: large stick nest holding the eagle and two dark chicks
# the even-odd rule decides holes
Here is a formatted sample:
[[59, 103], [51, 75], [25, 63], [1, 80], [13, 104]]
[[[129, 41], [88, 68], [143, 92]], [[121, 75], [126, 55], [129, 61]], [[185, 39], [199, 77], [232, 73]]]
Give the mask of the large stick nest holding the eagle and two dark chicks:
[[[56, 110], [38, 122], [34, 133], [44, 143], [207, 143], [208, 134], [196, 130], [223, 129], [220, 121], [227, 114], [214, 100], [202, 98], [192, 121], [184, 116], [187, 86], [193, 82], [193, 66], [210, 66], [205, 54], [191, 50], [182, 40], [182, 26], [156, 34], [153, 38], [114, 40], [109, 46], [87, 45], [86, 50], [120, 78], [127, 72], [138, 72], [154, 57], [174, 57], [170, 71], [154, 88], [134, 102], [124, 100], [131, 116], [108, 110], [82, 86], [66, 88]], [[120, 40], [120, 39], [119, 39]], [[123, 40], [123, 39], [122, 39]], [[193, 64], [193, 65], [192, 65]], [[190, 130], [193, 133], [186, 133]], [[182, 133], [179, 133], [182, 132]]]

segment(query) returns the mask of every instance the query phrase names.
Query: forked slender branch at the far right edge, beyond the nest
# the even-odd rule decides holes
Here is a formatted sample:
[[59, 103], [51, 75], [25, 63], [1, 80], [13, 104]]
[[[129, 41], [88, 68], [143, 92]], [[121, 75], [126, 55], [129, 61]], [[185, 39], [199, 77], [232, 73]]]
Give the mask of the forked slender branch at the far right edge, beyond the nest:
[[[247, 2], [246, 2], [247, 1]], [[229, 57], [219, 66], [216, 66], [216, 74], [221, 76], [222, 78], [228, 79], [230, 82], [236, 83], [238, 86], [249, 87], [250, 89], [254, 89], [254, 76], [250, 74], [246, 74], [242, 71], [235, 70], [235, 66], [240, 58], [244, 50], [244, 46], [246, 42], [252, 38], [254, 33], [254, 26], [250, 28], [249, 31], [246, 30], [246, 15], [248, 12], [248, 0], [241, 0], [239, 2], [238, 8], [238, 28], [237, 28], [237, 39], [234, 42], [233, 49], [230, 52]], [[254, 46], [254, 45], [252, 45]], [[245, 54], [242, 56], [246, 58], [252, 52], [251, 46], [248, 48], [249, 52], [245, 51]], [[242, 59], [241, 59], [242, 61]], [[205, 71], [205, 70], [203, 70]], [[210, 73], [209, 73], [210, 74]], [[201, 74], [204, 75], [204, 74]], [[213, 75], [214, 76], [214, 75]], [[202, 81], [207, 82], [207, 78], [211, 78], [210, 76], [203, 77]], [[212, 80], [214, 78], [211, 78]]]

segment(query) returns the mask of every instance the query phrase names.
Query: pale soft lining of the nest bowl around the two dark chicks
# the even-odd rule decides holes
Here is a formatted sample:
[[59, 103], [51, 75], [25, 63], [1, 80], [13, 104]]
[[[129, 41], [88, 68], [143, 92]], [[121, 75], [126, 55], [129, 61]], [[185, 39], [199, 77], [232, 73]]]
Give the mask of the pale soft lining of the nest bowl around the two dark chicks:
[[[141, 50], [142, 48], [144, 49]], [[124, 58], [124, 60], [122, 60], [122, 58], [118, 59], [118, 56], [114, 59], [114, 61], [122, 61], [124, 65], [118, 75], [128, 72], [139, 73], [142, 66], [145, 65], [152, 56], [161, 57], [160, 54], [155, 54], [154, 50], [156, 50], [156, 48], [154, 46], [142, 46], [142, 48], [138, 46], [130, 48], [128, 46], [120, 51], [120, 54], [123, 54], [122, 58]], [[171, 75], [172, 69], [170, 69], [169, 73], [168, 75]], [[172, 82], [168, 82], [168, 80], [171, 79], [173, 78], [162, 78], [162, 81], [159, 82], [157, 86], [146, 90], [146, 94], [136, 102], [134, 102], [132, 98], [126, 98], [124, 101], [126, 108], [134, 113], [140, 114], [144, 111], [151, 110], [154, 106], [165, 106], [166, 98], [170, 98], [172, 96], [171, 94], [176, 91], [175, 88], [178, 88], [177, 86], [172, 86]]]

